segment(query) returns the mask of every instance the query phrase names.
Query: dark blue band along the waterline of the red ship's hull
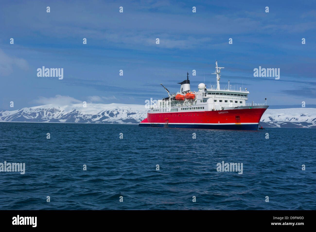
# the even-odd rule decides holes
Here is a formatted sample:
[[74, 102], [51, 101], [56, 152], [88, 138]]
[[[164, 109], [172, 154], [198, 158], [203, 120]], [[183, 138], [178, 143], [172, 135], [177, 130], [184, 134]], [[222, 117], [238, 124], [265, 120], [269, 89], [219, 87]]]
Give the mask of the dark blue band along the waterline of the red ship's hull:
[[[139, 123], [140, 127], [164, 127], [164, 124]], [[168, 124], [168, 128], [193, 128], [193, 129], [219, 129], [219, 130], [258, 130], [258, 124], [235, 124], [235, 125], [190, 125], [190, 124]]]

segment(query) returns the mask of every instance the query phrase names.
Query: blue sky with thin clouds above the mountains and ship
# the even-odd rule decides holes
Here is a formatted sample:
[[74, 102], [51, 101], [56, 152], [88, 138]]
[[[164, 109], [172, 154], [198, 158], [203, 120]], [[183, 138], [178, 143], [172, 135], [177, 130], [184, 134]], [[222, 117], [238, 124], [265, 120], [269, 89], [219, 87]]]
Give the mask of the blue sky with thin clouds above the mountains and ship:
[[[166, 96], [161, 83], [179, 91], [186, 72], [191, 90], [204, 82], [204, 74], [205, 84], [213, 85], [216, 59], [225, 67], [221, 87], [228, 80], [247, 87], [249, 101], [316, 107], [315, 1], [0, 4], [0, 109], [82, 101], [145, 104]], [[42, 66], [64, 68], [64, 79], [37, 77]], [[280, 79], [254, 77], [259, 66], [280, 68]]]

